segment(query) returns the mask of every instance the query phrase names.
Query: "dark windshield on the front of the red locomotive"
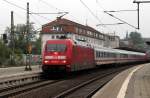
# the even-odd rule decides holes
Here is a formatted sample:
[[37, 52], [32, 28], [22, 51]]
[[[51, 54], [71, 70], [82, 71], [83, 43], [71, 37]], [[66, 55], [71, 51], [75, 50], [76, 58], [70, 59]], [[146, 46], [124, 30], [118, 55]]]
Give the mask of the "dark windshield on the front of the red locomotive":
[[48, 52], [64, 52], [66, 50], [65, 44], [47, 44], [47, 51]]

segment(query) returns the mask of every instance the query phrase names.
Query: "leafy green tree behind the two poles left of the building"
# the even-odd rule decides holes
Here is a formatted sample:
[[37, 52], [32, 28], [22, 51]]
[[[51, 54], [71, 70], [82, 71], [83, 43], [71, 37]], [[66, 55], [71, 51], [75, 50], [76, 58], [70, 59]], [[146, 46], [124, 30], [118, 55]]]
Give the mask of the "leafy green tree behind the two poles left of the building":
[[[33, 24], [30, 24], [30, 34], [27, 35], [26, 33], [26, 25], [25, 24], [17, 24], [14, 26], [14, 37], [13, 37], [13, 43], [11, 40], [11, 32], [10, 28], [7, 27], [5, 30], [5, 33], [8, 34], [9, 43], [7, 44], [10, 49], [10, 55], [13, 55], [14, 64], [17, 64], [17, 62], [20, 62], [22, 59], [22, 54], [27, 53], [27, 38], [30, 38], [31, 43], [34, 43], [33, 39], [36, 39], [36, 31], [34, 30]], [[14, 51], [12, 51], [14, 47]], [[10, 56], [11, 57], [11, 56]], [[8, 57], [7, 59], [10, 59]], [[12, 61], [11, 61], [12, 62]]]

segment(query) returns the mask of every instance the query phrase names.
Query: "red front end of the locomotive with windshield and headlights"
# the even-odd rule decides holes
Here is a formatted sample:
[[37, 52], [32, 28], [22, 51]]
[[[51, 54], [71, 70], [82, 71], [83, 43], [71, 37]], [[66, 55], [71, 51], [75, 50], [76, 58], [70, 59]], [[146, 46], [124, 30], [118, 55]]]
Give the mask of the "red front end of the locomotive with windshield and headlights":
[[43, 72], [70, 71], [70, 43], [66, 40], [46, 42], [43, 58]]

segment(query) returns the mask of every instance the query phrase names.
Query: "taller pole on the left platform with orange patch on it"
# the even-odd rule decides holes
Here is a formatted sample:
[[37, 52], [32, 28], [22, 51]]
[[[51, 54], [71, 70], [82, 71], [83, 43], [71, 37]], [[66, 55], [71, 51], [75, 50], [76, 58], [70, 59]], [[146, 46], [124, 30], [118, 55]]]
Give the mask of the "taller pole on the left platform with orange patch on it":
[[31, 69], [31, 50], [29, 50], [29, 48], [31, 47], [31, 43], [30, 43], [30, 26], [29, 26], [29, 2], [27, 2], [27, 22], [26, 22], [26, 29], [27, 29], [27, 33], [26, 33], [26, 67], [25, 70], [29, 71], [32, 70]]

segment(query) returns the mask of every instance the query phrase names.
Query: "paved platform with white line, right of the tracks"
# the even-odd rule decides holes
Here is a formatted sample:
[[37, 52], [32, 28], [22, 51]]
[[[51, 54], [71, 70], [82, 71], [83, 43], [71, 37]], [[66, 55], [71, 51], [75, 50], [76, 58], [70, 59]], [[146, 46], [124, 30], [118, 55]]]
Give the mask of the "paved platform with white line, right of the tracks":
[[121, 72], [92, 98], [150, 98], [150, 63]]

